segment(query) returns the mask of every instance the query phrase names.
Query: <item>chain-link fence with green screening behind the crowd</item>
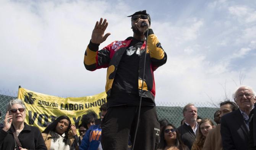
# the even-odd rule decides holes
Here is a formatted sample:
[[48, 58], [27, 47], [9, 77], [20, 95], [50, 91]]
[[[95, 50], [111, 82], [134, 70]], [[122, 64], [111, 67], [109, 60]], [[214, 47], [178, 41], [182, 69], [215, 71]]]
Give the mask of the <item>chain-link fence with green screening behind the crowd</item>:
[[[0, 111], [2, 112], [2, 119], [0, 122], [3, 122], [5, 118], [5, 109], [6, 104], [11, 99], [15, 99], [18, 96], [18, 92], [10, 92], [8, 90], [0, 89]], [[191, 102], [189, 102], [191, 103]], [[193, 102], [192, 102], [193, 103]], [[166, 118], [170, 123], [176, 127], [180, 126], [180, 122], [183, 119], [183, 107], [188, 104], [186, 102], [181, 103], [172, 103], [172, 102], [156, 102], [156, 111], [159, 119]], [[219, 108], [216, 108], [211, 103], [194, 103], [198, 108], [198, 116], [201, 118], [210, 118], [214, 119], [214, 113]]]

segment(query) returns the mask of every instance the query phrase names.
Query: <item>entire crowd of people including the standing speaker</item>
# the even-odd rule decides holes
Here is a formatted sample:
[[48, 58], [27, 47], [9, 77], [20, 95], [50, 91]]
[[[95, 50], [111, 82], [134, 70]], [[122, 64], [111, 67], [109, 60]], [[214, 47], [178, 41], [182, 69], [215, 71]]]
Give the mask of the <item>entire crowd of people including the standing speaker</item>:
[[84, 53], [87, 70], [108, 68], [107, 106], [100, 106], [100, 118], [93, 111], [85, 112], [79, 136], [64, 115], [41, 133], [24, 122], [23, 101], [13, 99], [0, 129], [0, 150], [255, 150], [256, 98], [248, 86], [237, 89], [235, 103], [220, 103], [213, 114], [216, 126], [209, 118], [199, 118], [192, 103], [183, 108], [178, 128], [172, 120], [158, 120], [154, 71], [167, 62], [167, 54], [150, 28], [146, 10], [127, 17], [133, 36], [99, 50], [110, 35], [104, 35], [108, 22], [100, 18]]

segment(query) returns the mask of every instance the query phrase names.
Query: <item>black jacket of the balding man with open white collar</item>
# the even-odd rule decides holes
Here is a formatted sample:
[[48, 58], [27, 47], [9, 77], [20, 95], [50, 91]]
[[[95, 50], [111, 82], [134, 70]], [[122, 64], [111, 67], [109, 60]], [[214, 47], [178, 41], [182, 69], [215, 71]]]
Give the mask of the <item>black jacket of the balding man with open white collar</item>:
[[188, 126], [186, 123], [184, 123], [178, 127], [178, 131], [180, 132], [180, 137], [183, 143], [191, 150], [191, 147], [196, 140], [196, 135], [194, 134], [191, 126]]

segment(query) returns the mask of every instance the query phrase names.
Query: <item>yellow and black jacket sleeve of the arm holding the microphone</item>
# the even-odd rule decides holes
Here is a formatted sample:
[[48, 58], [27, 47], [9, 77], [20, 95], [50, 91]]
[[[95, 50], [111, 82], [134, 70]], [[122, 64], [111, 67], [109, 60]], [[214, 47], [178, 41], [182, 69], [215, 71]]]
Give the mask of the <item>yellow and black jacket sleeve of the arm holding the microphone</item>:
[[149, 54], [154, 70], [166, 63], [167, 55], [164, 52], [161, 43], [157, 39], [157, 36], [154, 35], [154, 32], [151, 28], [148, 31], [147, 47], [149, 49]]

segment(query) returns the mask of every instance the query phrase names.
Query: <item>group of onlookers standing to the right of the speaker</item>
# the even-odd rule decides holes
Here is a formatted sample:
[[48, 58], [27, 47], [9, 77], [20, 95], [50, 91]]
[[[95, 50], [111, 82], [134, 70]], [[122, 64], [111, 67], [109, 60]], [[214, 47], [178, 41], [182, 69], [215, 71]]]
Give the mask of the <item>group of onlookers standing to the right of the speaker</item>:
[[[198, 117], [197, 108], [192, 103], [184, 107], [184, 119], [177, 129], [166, 119], [160, 120], [163, 132], [159, 150], [256, 150], [256, 133], [253, 132], [256, 128], [253, 117], [255, 92], [251, 87], [241, 86], [233, 94], [233, 99], [234, 102], [220, 103], [220, 109], [214, 113], [217, 125], [209, 118]], [[181, 148], [183, 144], [185, 148]]]

